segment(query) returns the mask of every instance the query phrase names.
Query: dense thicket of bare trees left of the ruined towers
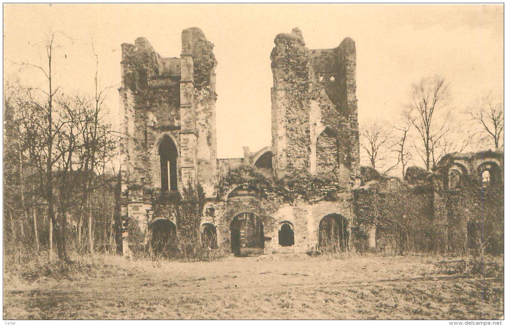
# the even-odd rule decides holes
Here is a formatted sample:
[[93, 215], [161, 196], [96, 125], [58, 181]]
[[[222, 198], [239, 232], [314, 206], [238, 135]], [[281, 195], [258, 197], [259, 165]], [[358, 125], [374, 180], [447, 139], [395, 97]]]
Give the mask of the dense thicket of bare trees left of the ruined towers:
[[[94, 95], [64, 97], [55, 88], [54, 58], [55, 49], [59, 48], [56, 36], [57, 33], [53, 33], [46, 44], [46, 63], [21, 63], [23, 67], [42, 71], [47, 88], [18, 87], [17, 94], [5, 102], [10, 121], [7, 124], [10, 132], [8, 215], [11, 220], [17, 215], [23, 216], [21, 222], [33, 223], [35, 245], [38, 246], [35, 206], [43, 203], [50, 222], [50, 255], [54, 234], [58, 257], [66, 261], [70, 234], [67, 225], [69, 219], [73, 219], [73, 213], [80, 216], [80, 222], [81, 217], [88, 214], [89, 249], [93, 251], [92, 214], [98, 213], [99, 216], [100, 212], [92, 211], [91, 194], [107, 185], [99, 192], [102, 196], [112, 195], [111, 180], [115, 179], [115, 173], [113, 171], [111, 175], [106, 166], [112, 162], [117, 139], [105, 121], [106, 110], [102, 104], [110, 88], [98, 90], [98, 57], [95, 53]], [[112, 214], [107, 215], [114, 217], [114, 210]], [[17, 221], [9, 222], [14, 227], [11, 230], [16, 230]], [[107, 223], [112, 225], [109, 220]], [[23, 230], [23, 223], [18, 225], [21, 227], [17, 229]], [[102, 240], [108, 236], [107, 232], [104, 234]]]

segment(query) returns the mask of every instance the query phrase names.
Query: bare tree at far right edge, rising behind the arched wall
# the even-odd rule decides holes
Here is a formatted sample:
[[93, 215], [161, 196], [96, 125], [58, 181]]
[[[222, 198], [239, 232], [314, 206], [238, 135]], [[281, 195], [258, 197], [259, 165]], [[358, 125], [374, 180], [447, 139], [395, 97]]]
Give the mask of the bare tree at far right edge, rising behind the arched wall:
[[491, 141], [495, 149], [498, 149], [503, 133], [503, 100], [490, 92], [478, 97], [465, 113], [477, 128], [477, 133], [481, 136], [480, 140]]

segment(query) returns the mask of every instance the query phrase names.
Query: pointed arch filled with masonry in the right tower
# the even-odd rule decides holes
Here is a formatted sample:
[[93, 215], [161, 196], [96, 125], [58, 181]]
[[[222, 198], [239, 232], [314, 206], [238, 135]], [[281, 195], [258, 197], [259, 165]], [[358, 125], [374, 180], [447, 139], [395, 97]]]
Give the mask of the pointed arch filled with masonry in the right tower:
[[317, 174], [329, 174], [339, 167], [339, 147], [337, 133], [327, 127], [317, 137]]

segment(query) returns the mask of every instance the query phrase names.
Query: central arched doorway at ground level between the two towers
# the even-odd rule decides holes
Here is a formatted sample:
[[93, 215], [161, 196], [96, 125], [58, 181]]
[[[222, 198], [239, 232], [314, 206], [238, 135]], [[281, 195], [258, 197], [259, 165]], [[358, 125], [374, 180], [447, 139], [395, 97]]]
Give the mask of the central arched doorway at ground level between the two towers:
[[244, 256], [249, 251], [256, 251], [245, 248], [264, 248], [264, 228], [261, 219], [254, 213], [238, 214], [231, 221], [231, 252], [235, 256]]

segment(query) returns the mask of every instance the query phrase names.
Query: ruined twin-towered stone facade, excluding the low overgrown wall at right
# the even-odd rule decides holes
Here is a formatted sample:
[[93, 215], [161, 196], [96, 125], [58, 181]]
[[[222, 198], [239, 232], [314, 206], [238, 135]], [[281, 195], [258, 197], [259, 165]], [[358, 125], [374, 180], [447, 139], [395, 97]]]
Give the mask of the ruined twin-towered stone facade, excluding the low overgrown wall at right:
[[[135, 219], [147, 245], [160, 225], [177, 236], [170, 198], [198, 184], [205, 195], [200, 232], [211, 237], [213, 248], [304, 252], [338, 239], [344, 249], [353, 224], [351, 190], [360, 181], [354, 41], [310, 50], [297, 28], [276, 36], [271, 146], [257, 153], [245, 147], [238, 159], [216, 158], [212, 50], [199, 28], [183, 30], [182, 52], [175, 58], [161, 57], [144, 38], [122, 44], [124, 225]], [[275, 193], [260, 198], [245, 184], [221, 187], [221, 179], [241, 165], [274, 178], [321, 176], [334, 199], [288, 202]], [[319, 234], [323, 225], [331, 230], [325, 239]], [[127, 230], [124, 255], [129, 255]]]

